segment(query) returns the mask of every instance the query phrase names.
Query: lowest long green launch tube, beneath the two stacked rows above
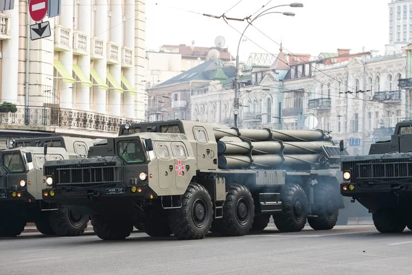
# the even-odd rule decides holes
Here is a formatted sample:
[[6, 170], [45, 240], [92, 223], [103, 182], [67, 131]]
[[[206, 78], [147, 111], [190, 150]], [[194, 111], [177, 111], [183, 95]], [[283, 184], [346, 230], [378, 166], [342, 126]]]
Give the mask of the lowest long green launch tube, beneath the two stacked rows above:
[[246, 155], [220, 155], [218, 157], [218, 167], [227, 168], [249, 168], [258, 166], [266, 169], [286, 168], [293, 170], [294, 166], [307, 166], [315, 164], [319, 160], [319, 154], [305, 155], [255, 155], [252, 157], [253, 162]]

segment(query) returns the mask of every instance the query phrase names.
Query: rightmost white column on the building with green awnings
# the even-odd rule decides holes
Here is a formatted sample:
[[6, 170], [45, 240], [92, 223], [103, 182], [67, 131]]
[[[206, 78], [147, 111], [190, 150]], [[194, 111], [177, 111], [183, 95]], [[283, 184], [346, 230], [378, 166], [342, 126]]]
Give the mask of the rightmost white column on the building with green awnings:
[[[124, 23], [124, 47], [133, 49], [135, 47], [135, 9], [132, 7], [135, 6], [135, 0], [126, 0], [125, 11], [125, 23]], [[126, 79], [133, 85], [133, 88], [136, 89], [135, 85], [135, 62], [132, 57], [132, 67], [130, 69], [124, 70], [124, 76]], [[126, 118], [135, 118], [135, 94], [130, 92], [125, 92], [123, 96], [123, 106], [124, 106], [124, 116]]]

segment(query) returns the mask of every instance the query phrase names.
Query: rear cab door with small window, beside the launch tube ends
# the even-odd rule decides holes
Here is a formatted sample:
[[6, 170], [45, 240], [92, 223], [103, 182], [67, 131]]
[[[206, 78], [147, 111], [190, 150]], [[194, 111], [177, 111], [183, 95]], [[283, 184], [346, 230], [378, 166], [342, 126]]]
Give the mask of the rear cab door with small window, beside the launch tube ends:
[[[207, 136], [207, 131], [201, 126], [194, 126], [194, 138], [197, 142], [197, 167], [198, 169], [211, 169], [218, 168], [217, 158], [218, 152], [216, 152], [216, 146], [214, 142], [211, 142], [210, 137]], [[216, 164], [213, 163], [216, 159]]]

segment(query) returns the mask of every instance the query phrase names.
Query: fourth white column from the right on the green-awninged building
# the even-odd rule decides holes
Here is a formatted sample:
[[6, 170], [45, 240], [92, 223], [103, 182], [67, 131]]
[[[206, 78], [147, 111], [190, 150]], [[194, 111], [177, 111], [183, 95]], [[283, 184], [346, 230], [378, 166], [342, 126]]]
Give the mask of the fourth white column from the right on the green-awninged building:
[[[90, 76], [90, 41], [91, 41], [91, 0], [82, 0], [78, 12], [78, 30], [87, 36], [87, 52], [89, 54], [78, 57], [78, 66], [82, 69], [84, 75], [89, 79]], [[76, 104], [82, 111], [90, 111], [90, 87], [82, 83], [77, 85]]]

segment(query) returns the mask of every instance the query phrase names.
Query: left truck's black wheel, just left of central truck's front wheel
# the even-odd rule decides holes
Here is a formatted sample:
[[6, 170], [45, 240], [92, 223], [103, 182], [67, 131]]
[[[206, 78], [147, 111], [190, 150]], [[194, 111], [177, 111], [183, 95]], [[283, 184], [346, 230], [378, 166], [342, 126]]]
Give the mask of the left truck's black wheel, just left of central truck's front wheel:
[[50, 228], [57, 236], [79, 236], [89, 223], [89, 215], [80, 215], [66, 208], [50, 212]]

